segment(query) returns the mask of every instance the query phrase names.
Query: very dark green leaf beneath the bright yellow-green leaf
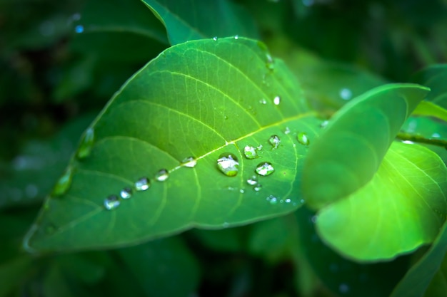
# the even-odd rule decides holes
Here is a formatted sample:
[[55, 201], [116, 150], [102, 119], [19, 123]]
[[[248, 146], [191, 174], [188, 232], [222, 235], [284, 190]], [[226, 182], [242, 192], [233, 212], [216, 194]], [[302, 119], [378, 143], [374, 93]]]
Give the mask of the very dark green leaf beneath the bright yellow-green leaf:
[[315, 212], [301, 207], [295, 216], [303, 254], [321, 282], [337, 296], [389, 296], [406, 272], [408, 256], [379, 264], [358, 264], [343, 258], [321, 241]]

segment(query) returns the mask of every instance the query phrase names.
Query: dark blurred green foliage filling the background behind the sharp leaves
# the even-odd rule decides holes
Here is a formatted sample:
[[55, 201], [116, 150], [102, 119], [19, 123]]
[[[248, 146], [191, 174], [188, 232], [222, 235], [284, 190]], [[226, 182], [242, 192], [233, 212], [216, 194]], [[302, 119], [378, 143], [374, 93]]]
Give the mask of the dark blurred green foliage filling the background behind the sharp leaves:
[[[412, 77], [447, 63], [445, 0], [231, 3], [328, 114], [346, 102], [344, 88], [351, 97], [383, 82], [445, 81], [436, 68]], [[169, 41], [138, 0], [0, 0], [0, 32], [0, 297], [386, 296], [417, 257], [353, 264], [318, 239], [306, 209], [123, 249], [25, 254], [21, 239], [83, 130]], [[445, 123], [416, 117], [403, 132], [416, 125], [421, 137], [447, 135]], [[445, 263], [426, 296], [446, 292]]]

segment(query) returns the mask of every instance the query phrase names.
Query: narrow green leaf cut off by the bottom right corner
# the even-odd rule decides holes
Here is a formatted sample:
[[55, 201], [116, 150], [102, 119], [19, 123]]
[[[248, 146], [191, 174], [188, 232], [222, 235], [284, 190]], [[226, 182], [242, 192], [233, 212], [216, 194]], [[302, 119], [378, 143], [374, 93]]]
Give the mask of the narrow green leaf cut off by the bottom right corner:
[[431, 248], [414, 264], [394, 288], [391, 297], [421, 297], [437, 273], [447, 253], [447, 224], [438, 234]]

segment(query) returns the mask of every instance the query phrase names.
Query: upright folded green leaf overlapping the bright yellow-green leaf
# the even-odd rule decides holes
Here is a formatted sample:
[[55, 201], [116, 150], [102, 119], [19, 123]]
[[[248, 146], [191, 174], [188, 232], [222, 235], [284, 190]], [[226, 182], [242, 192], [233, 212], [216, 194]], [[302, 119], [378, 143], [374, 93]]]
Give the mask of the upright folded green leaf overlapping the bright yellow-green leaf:
[[383, 85], [344, 105], [306, 157], [302, 187], [308, 205], [320, 209], [371, 180], [398, 130], [427, 92], [420, 85]]

